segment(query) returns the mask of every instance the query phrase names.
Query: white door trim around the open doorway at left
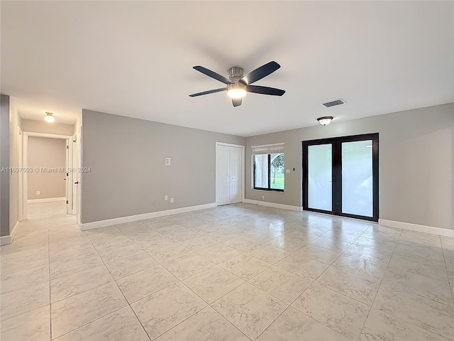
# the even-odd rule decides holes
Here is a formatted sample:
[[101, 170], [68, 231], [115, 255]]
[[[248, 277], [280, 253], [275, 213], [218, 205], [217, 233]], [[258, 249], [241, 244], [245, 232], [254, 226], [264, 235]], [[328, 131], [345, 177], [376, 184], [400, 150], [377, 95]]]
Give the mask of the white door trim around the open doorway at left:
[[[57, 135], [57, 134], [45, 134], [45, 133], [36, 133], [34, 131], [23, 131], [23, 141], [22, 141], [22, 156], [19, 158], [19, 161], [21, 161], [22, 164], [20, 164], [20, 168], [23, 170], [26, 170], [28, 168], [28, 137], [33, 136], [33, 137], [46, 137], [49, 139], [65, 139], [67, 142], [67, 145], [69, 145], [69, 150], [68, 153], [71, 155], [72, 153], [72, 144], [70, 144], [70, 139], [72, 141], [72, 136], [70, 135]], [[72, 160], [67, 160], [67, 168], [73, 168], [72, 165]], [[19, 176], [19, 188], [22, 188], [21, 193], [19, 194], [19, 198], [21, 200], [21, 203], [19, 204], [19, 207], [22, 206], [22, 212], [19, 212], [19, 216], [22, 218], [22, 220], [27, 219], [27, 204], [28, 204], [28, 173], [24, 171], [22, 173], [23, 176]], [[67, 181], [69, 181], [70, 178], [67, 178]], [[70, 190], [72, 190], [72, 187], [70, 187]], [[68, 213], [70, 212], [70, 207], [72, 207], [72, 193], [68, 193], [67, 196], [68, 200]], [[71, 201], [70, 201], [71, 200]]]

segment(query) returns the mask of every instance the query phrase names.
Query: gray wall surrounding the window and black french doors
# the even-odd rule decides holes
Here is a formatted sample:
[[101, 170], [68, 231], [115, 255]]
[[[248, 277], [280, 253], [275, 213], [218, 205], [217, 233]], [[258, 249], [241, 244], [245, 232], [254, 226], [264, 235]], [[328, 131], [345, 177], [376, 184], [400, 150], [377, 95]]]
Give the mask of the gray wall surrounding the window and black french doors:
[[[335, 111], [333, 111], [335, 112]], [[336, 114], [334, 114], [336, 116]], [[380, 133], [380, 218], [453, 229], [454, 104], [383, 114], [246, 139], [245, 197], [301, 206], [301, 141]], [[284, 193], [252, 190], [250, 147], [285, 143]]]

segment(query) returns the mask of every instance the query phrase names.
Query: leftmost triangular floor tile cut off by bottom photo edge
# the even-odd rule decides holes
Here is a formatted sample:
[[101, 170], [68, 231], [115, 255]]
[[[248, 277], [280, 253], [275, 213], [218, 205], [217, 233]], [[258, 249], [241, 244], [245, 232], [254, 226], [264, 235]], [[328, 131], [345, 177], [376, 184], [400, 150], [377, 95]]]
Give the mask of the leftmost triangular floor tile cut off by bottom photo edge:
[[92, 323], [58, 337], [58, 341], [88, 340], [137, 340], [149, 341], [147, 333], [135, 317], [131, 307], [126, 306]]

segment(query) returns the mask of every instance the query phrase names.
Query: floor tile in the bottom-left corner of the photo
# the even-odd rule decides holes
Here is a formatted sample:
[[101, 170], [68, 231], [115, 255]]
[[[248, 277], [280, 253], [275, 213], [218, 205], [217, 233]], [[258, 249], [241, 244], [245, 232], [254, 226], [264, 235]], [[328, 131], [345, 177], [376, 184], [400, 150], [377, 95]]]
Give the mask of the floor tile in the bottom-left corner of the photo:
[[50, 341], [50, 306], [1, 321], [0, 340]]

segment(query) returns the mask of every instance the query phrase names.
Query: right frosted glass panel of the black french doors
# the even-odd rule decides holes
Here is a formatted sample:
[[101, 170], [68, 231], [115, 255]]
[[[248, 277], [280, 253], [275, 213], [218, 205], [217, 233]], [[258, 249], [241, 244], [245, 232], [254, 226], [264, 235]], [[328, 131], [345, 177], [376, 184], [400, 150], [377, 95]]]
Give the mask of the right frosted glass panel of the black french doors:
[[342, 212], [373, 216], [372, 140], [342, 143]]

